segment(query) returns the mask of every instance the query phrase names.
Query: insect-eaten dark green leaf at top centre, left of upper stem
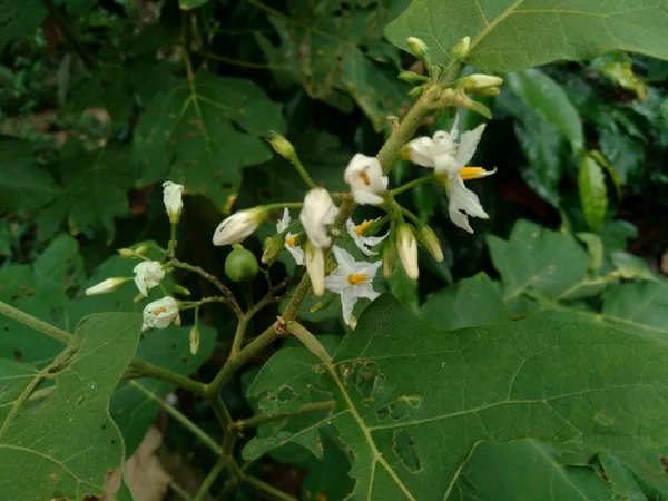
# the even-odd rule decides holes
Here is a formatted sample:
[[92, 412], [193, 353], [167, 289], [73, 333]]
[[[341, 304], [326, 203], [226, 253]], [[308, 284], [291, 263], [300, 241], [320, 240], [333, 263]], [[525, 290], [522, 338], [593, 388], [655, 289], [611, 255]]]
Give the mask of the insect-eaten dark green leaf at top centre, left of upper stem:
[[380, 63], [399, 60], [384, 43], [383, 28], [406, 0], [287, 3], [289, 17], [272, 17], [281, 46], [258, 37], [278, 81], [299, 82], [312, 98], [346, 111], [352, 98], [376, 130], [410, 105], [410, 87], [396, 78], [396, 65]]

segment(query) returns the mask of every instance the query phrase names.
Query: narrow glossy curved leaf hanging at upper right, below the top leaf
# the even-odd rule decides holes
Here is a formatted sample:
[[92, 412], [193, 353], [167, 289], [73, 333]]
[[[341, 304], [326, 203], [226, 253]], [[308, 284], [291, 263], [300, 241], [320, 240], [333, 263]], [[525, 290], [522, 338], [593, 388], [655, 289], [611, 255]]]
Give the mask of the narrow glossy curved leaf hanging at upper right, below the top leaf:
[[578, 110], [559, 84], [539, 69], [507, 76], [510, 90], [540, 117], [552, 124], [578, 154], [584, 145], [584, 131]]

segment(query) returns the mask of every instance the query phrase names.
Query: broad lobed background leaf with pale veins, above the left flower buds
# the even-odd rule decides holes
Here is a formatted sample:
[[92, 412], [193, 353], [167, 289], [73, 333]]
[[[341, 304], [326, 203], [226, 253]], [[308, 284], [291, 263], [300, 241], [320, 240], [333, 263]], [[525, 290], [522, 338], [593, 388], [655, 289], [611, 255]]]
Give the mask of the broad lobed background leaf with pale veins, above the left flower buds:
[[169, 178], [223, 208], [239, 188], [243, 167], [272, 158], [257, 137], [271, 130], [285, 130], [281, 106], [252, 81], [206, 71], [191, 84], [176, 80], [148, 104], [137, 125], [141, 183]]

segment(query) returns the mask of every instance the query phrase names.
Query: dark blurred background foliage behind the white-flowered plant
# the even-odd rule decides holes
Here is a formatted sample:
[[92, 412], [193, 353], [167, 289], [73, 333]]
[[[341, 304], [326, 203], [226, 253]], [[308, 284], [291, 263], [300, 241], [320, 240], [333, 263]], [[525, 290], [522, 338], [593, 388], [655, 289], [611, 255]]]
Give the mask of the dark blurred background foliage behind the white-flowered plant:
[[[0, 0], [0, 297], [69, 328], [100, 308], [137, 308], [129, 292], [84, 302], [84, 285], [131, 274], [131, 263], [115, 257], [116, 248], [165, 239], [159, 186], [166, 179], [183, 183], [189, 195], [179, 257], [223, 276], [227, 250], [210, 245], [220, 218], [304, 193], [297, 174], [264, 140], [271, 130], [285, 134], [316, 183], [335, 191], [344, 188], [342, 173], [352, 155], [374, 155], [390, 131], [386, 117], [407, 110], [409, 87], [396, 73], [423, 68], [383, 36], [407, 4]], [[477, 219], [477, 233], [469, 236], [451, 224], [442, 188], [421, 185], [402, 195], [441, 238], [445, 261], [422, 259], [429, 273], [419, 286], [397, 271], [385, 287], [410, 310], [422, 308], [425, 320], [430, 311], [460, 301], [470, 308], [484, 298], [489, 310], [499, 292], [500, 308], [511, 317], [576, 301], [582, 315], [602, 310], [628, 320], [636, 313], [623, 297], [632, 295], [647, 298], [642, 322], [664, 328], [666, 312], [655, 298], [666, 291], [660, 275], [668, 273], [668, 63], [607, 53], [502, 77], [501, 95], [485, 101], [494, 118], [475, 157], [477, 165], [498, 173], [491, 181], [471, 184], [490, 219]], [[451, 121], [444, 114], [424, 124], [422, 134], [449, 129]], [[461, 114], [463, 129], [480, 121]], [[419, 175], [400, 160], [392, 183]], [[247, 247], [259, 252], [261, 240]], [[509, 264], [509, 255], [524, 258]], [[531, 283], [546, 263], [560, 282], [543, 287], [534, 281], [531, 297], [518, 292], [513, 284], [527, 277]], [[276, 281], [292, 271], [287, 261], [285, 266], [272, 269]], [[466, 296], [469, 281], [443, 291], [473, 275], [475, 294]], [[649, 282], [615, 285], [636, 278]], [[635, 289], [610, 288], [600, 296], [611, 284]], [[185, 285], [207, 293], [205, 284]], [[336, 304], [313, 306], [303, 310], [310, 322], [345, 332]], [[159, 343], [147, 337], [155, 346], [143, 341], [147, 360], [183, 373], [199, 367], [210, 377], [224, 360], [233, 320], [225, 312], [203, 312], [213, 328], [203, 333], [197, 357], [169, 354], [170, 346], [178, 344], [175, 353], [187, 346], [187, 327], [171, 327]], [[498, 320], [497, 313], [490, 318]], [[265, 312], [258, 326], [275, 314]], [[35, 334], [21, 335], [21, 346], [0, 346], [29, 362], [52, 355], [55, 347], [38, 346]], [[235, 413], [249, 412], [240, 389], [252, 375], [246, 372], [225, 395]], [[119, 395], [117, 416], [147, 399], [136, 389]], [[202, 403], [186, 393], [178, 397], [199, 422], [212, 421], [215, 433]], [[127, 432], [128, 455], [157, 413], [157, 405], [148, 405], [145, 426]], [[171, 433], [169, 441], [170, 451], [206, 455], [185, 433]], [[282, 489], [297, 492], [304, 483], [306, 492], [332, 482], [332, 465], [345, 466], [340, 454], [325, 441], [330, 470], [322, 462], [305, 466], [313, 458], [289, 450], [254, 468], [265, 469], [264, 478]], [[297, 463], [308, 474], [286, 474], [275, 460]], [[334, 481], [328, 489], [346, 487]]]

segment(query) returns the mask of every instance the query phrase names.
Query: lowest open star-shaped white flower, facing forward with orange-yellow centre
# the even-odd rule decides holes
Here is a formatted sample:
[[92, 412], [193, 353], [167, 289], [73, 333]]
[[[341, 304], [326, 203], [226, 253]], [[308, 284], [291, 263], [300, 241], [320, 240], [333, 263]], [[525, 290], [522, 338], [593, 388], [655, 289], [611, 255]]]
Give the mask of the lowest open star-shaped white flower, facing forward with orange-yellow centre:
[[325, 278], [325, 288], [341, 294], [343, 320], [352, 326], [354, 324], [353, 307], [357, 299], [367, 297], [373, 301], [380, 295], [373, 289], [372, 282], [382, 262], [356, 262], [353, 256], [336, 245], [333, 250], [338, 267]]

